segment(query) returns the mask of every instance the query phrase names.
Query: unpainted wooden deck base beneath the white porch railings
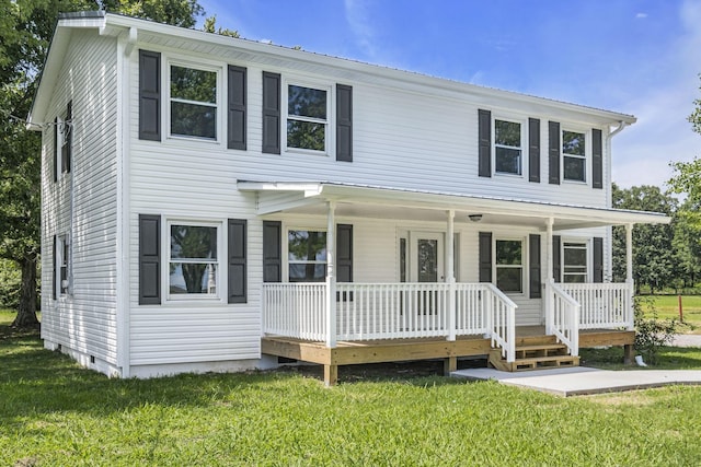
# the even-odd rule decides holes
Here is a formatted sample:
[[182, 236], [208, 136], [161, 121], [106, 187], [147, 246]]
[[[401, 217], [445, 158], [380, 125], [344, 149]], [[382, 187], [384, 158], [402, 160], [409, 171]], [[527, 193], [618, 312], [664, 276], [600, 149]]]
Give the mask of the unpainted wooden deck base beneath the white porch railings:
[[[544, 326], [516, 328], [517, 343], [545, 336]], [[634, 339], [634, 331], [587, 329], [579, 331], [579, 348], [623, 346], [630, 361]], [[457, 370], [458, 359], [486, 357], [491, 350], [491, 340], [482, 336], [463, 336], [455, 341], [445, 338], [338, 341], [335, 348], [327, 348], [324, 342], [281, 336], [261, 338], [262, 353], [322, 364], [326, 386], [336, 384], [340, 365], [444, 359], [444, 370], [448, 374]]]

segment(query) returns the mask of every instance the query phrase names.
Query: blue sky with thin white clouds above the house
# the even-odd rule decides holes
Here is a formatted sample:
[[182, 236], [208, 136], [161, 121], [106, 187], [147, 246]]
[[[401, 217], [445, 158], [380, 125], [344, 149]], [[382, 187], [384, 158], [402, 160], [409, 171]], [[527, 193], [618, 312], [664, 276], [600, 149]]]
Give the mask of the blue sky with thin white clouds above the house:
[[613, 180], [701, 156], [701, 0], [199, 0], [242, 37], [635, 115]]

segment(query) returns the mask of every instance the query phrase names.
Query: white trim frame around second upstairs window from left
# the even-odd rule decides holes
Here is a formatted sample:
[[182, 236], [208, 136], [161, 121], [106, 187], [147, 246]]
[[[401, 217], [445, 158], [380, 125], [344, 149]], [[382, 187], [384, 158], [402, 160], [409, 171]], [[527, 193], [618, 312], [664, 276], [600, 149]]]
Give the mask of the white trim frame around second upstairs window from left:
[[[324, 91], [326, 93], [326, 119], [322, 121], [312, 117], [299, 117], [292, 116], [294, 120], [309, 121], [309, 122], [324, 122], [324, 150], [317, 151], [313, 149], [294, 148], [287, 145], [287, 120], [289, 116], [289, 86], [309, 87], [313, 90]], [[335, 148], [335, 112], [336, 112], [336, 96], [335, 85], [326, 81], [310, 80], [308, 78], [296, 78], [294, 75], [281, 78], [280, 90], [280, 144], [281, 149], [286, 153], [295, 154], [310, 154], [310, 155], [325, 155], [331, 156], [333, 149]]]

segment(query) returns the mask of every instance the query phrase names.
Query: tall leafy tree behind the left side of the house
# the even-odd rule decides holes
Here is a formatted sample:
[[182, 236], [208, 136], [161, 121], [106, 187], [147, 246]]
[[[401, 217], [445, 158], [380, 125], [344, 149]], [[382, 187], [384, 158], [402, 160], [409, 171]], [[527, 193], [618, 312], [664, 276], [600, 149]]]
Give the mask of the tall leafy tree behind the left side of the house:
[[193, 27], [196, 0], [0, 0], [0, 257], [22, 271], [13, 326], [36, 326], [41, 137], [25, 128], [59, 12], [97, 10]]

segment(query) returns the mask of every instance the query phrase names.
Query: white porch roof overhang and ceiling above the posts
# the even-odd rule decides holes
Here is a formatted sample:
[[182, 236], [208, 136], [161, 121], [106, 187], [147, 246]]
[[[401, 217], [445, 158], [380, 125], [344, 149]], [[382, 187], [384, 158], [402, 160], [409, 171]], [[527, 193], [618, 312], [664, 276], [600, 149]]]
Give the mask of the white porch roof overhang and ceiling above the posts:
[[258, 214], [276, 212], [325, 215], [327, 202], [335, 202], [335, 215], [375, 219], [446, 221], [455, 211], [456, 223], [508, 224], [553, 230], [586, 229], [622, 224], [666, 224], [670, 219], [657, 212], [526, 201], [450, 192], [418, 191], [335, 183], [239, 182], [242, 191], [258, 194]]

